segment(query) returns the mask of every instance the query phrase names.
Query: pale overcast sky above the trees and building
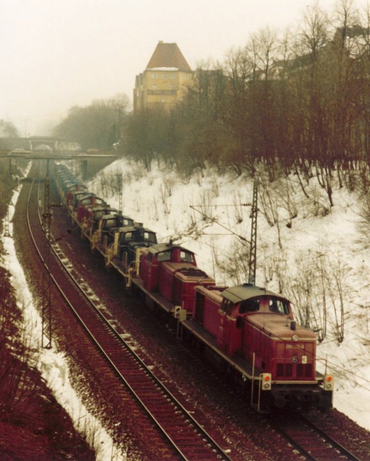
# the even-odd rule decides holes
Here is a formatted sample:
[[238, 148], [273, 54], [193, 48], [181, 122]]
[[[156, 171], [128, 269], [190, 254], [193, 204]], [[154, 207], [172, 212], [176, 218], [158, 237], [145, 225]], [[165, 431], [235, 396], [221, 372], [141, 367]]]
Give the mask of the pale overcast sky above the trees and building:
[[[335, 0], [319, 5], [332, 12]], [[366, 0], [354, 0], [364, 8]], [[0, 119], [40, 134], [72, 106], [126, 93], [132, 100], [159, 40], [191, 68], [223, 60], [269, 26], [295, 27], [309, 0], [0, 0]]]

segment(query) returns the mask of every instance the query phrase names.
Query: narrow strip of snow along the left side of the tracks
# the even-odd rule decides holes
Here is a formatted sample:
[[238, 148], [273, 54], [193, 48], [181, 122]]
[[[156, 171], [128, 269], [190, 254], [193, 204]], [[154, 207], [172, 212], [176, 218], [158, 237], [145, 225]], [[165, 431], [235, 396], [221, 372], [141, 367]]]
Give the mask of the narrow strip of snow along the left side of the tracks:
[[[13, 194], [11, 205], [9, 206], [9, 231], [12, 235], [13, 226], [11, 223], [14, 207], [21, 187], [18, 187]], [[4, 228], [3, 223], [3, 228]], [[90, 414], [72, 388], [69, 380], [69, 370], [64, 354], [58, 352], [53, 345], [51, 349], [41, 348], [41, 317], [38, 314], [31, 292], [28, 289], [27, 281], [22, 266], [17, 260], [14, 248], [14, 241], [11, 237], [2, 237], [2, 242], [6, 252], [3, 265], [10, 271], [11, 283], [15, 289], [18, 305], [23, 307], [24, 326], [27, 333], [27, 344], [38, 350], [35, 358], [38, 370], [41, 372], [47, 386], [52, 389], [56, 401], [70, 415], [75, 429], [86, 435], [87, 441], [95, 449], [96, 459], [123, 460], [126, 459], [119, 447], [116, 447], [100, 423]]]

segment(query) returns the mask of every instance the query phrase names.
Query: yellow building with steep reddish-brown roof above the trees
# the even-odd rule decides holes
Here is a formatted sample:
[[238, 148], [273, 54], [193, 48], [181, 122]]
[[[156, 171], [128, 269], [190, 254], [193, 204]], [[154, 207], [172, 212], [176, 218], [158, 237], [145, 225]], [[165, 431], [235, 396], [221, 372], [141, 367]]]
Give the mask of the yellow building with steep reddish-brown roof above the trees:
[[134, 113], [153, 107], [170, 110], [191, 85], [192, 75], [177, 44], [159, 41], [144, 72], [135, 77]]

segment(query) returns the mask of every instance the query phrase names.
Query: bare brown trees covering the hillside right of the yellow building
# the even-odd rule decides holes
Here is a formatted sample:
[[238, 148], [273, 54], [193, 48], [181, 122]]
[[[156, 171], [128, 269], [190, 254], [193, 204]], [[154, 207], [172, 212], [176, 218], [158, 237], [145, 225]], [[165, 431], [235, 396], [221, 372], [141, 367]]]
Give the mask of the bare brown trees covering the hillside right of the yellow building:
[[188, 173], [207, 161], [254, 174], [263, 163], [270, 180], [294, 171], [302, 187], [313, 166], [331, 201], [334, 170], [351, 187], [351, 172], [369, 164], [368, 21], [342, 2], [332, 18], [311, 10], [295, 33], [259, 31], [199, 68], [176, 110], [129, 117], [123, 152]]

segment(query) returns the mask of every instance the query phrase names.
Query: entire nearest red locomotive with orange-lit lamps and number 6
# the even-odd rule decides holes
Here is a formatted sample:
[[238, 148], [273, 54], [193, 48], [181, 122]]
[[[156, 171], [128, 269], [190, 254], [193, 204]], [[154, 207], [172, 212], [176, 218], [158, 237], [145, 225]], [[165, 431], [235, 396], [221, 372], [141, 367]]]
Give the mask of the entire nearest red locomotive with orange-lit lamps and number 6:
[[287, 299], [249, 284], [195, 291], [192, 321], [183, 325], [262, 386], [261, 399], [279, 408], [331, 408], [333, 376], [316, 371], [316, 334], [294, 321]]

